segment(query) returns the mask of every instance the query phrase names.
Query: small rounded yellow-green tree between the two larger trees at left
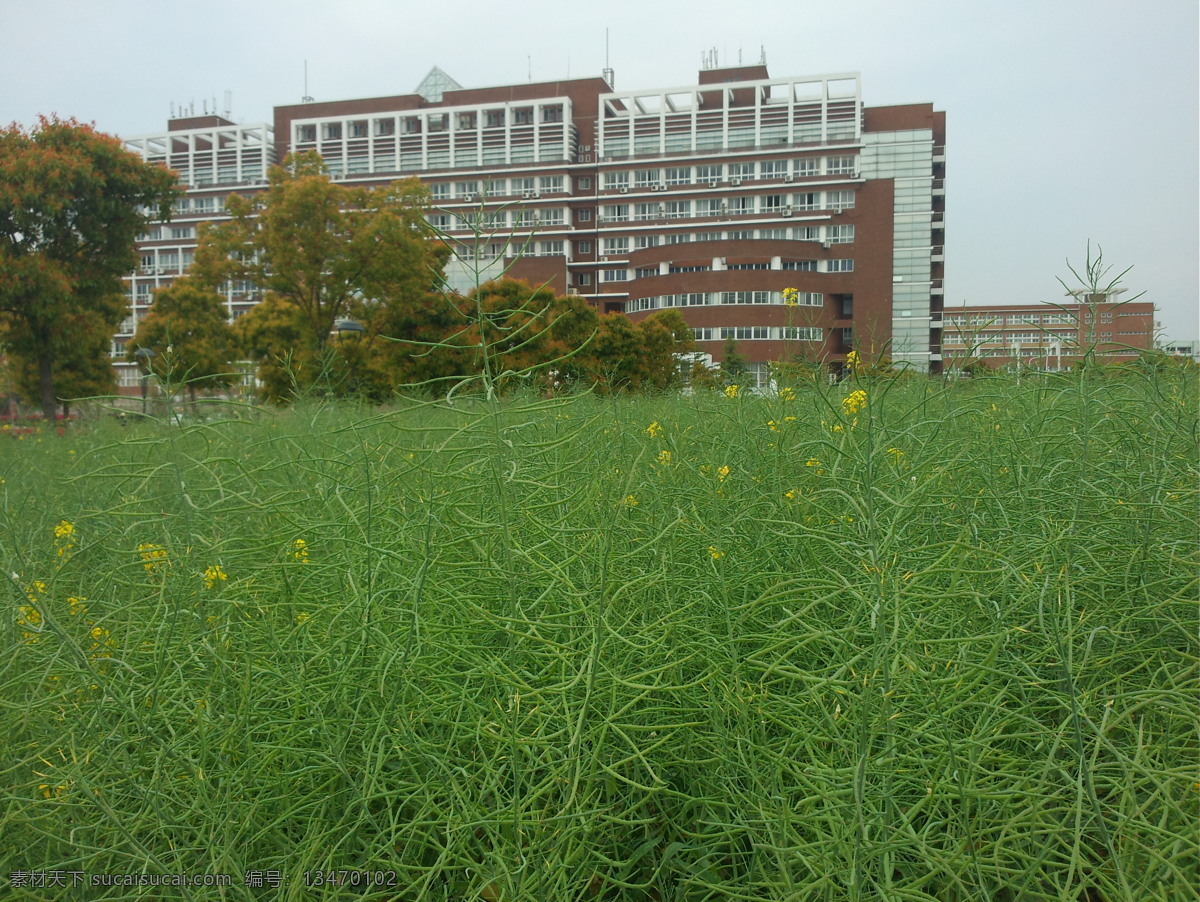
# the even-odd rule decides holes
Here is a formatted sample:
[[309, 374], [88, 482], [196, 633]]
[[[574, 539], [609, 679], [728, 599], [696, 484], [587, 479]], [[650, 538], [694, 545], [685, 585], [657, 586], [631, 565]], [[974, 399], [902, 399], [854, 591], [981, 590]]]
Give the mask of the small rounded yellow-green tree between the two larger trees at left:
[[197, 385], [227, 387], [238, 378], [229, 366], [234, 339], [221, 295], [188, 276], [155, 293], [126, 348], [127, 359], [136, 361], [140, 348], [155, 351], [158, 373], [187, 384], [192, 403]]

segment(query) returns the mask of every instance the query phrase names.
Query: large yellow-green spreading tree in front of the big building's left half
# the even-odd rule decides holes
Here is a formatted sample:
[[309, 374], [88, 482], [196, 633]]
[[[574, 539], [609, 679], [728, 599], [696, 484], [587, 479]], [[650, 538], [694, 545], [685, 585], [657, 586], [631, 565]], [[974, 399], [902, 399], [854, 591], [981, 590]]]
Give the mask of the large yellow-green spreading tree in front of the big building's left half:
[[427, 204], [416, 179], [382, 188], [337, 185], [319, 155], [290, 155], [271, 168], [265, 192], [230, 196], [232, 220], [204, 230], [193, 272], [212, 287], [241, 279], [266, 293], [270, 315], [245, 331], [259, 350], [278, 349], [284, 343], [263, 330], [283, 327], [294, 339], [286, 345], [308, 357], [293, 375], [304, 373], [311, 384], [336, 357], [325, 351], [340, 319], [352, 317], [374, 333], [376, 320], [402, 318], [400, 311], [425, 303], [440, 279], [448, 251], [432, 240]]

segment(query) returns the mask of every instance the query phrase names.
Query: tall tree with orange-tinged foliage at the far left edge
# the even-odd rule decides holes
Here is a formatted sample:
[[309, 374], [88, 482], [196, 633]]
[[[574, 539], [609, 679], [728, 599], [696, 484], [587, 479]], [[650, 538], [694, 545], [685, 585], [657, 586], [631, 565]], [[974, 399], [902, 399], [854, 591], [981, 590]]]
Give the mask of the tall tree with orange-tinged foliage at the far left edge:
[[[169, 217], [178, 193], [173, 173], [74, 120], [42, 116], [32, 131], [0, 131], [0, 318], [12, 351], [37, 367], [47, 417], [64, 360], [85, 349], [107, 356], [134, 241]], [[90, 343], [78, 343], [79, 330]]]

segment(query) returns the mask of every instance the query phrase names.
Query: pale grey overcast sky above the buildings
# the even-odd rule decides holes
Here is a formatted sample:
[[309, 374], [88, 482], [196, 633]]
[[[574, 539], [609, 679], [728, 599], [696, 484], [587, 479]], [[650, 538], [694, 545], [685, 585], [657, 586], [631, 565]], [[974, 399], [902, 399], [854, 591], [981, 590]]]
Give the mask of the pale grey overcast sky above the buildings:
[[170, 104], [233, 119], [413, 91], [598, 76], [695, 84], [862, 73], [866, 106], [947, 115], [946, 305], [1057, 300], [1088, 241], [1166, 336], [1198, 336], [1196, 0], [0, 0], [0, 124], [56, 113], [131, 136]]

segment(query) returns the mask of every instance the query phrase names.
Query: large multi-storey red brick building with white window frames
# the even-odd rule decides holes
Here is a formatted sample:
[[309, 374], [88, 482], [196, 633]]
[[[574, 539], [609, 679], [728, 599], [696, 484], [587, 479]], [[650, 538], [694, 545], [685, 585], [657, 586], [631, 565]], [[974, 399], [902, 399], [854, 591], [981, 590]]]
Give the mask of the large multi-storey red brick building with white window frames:
[[[258, 190], [265, 164], [316, 150], [337, 180], [428, 186], [457, 251], [451, 288], [511, 264], [600, 312], [678, 308], [702, 351], [719, 362], [732, 336], [760, 379], [772, 360], [803, 351], [836, 368], [851, 349], [938, 372], [944, 143], [931, 104], [864, 107], [856, 73], [772, 78], [766, 65], [631, 91], [611, 73], [463, 89], [434, 68], [413, 94], [276, 107], [271, 125], [175, 119], [126, 140], [176, 169], [188, 197], [143, 245], [114, 354], [154, 288], [186, 269], [191, 221]], [[233, 284], [227, 300], [235, 318], [257, 296]]]

